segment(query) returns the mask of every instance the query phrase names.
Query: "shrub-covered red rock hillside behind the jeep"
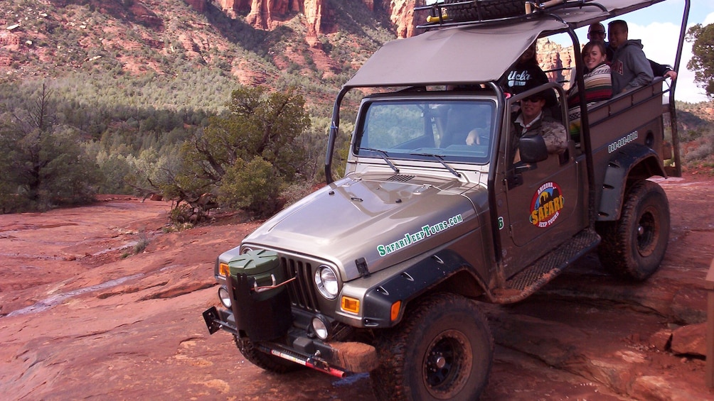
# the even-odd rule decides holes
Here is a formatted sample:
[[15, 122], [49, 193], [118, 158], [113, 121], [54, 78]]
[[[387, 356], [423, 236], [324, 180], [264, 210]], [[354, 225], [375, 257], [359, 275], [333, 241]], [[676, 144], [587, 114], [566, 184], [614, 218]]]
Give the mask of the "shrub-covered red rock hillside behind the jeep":
[[[395, 2], [322, 0], [319, 32], [303, 12], [256, 28], [248, 9], [192, 3], [2, 2], [1, 212], [159, 193], [183, 204], [175, 217], [185, 222], [216, 204], [269, 214], [256, 205], [269, 198], [268, 209], [279, 208], [322, 179], [334, 96], [382, 43], [403, 35], [386, 6]], [[275, 102], [294, 108], [281, 115]], [[712, 108], [682, 107], [683, 137], [694, 144], [683, 160], [713, 165]], [[351, 113], [343, 111], [347, 132]], [[293, 131], [274, 132], [273, 145], [236, 137], [258, 138], [290, 118]], [[275, 143], [299, 150], [292, 165], [278, 162]], [[231, 152], [218, 155], [222, 147]], [[223, 167], [206, 164], [218, 156]], [[226, 174], [252, 184], [221, 187]], [[253, 199], [251, 188], [266, 193]]]

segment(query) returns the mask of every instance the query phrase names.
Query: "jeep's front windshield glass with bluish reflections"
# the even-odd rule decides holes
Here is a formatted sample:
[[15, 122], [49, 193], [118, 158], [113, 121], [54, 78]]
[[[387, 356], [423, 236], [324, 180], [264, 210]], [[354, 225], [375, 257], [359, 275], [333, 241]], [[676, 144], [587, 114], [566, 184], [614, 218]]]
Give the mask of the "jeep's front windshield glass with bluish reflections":
[[388, 100], [364, 107], [356, 155], [488, 162], [496, 114], [492, 100]]

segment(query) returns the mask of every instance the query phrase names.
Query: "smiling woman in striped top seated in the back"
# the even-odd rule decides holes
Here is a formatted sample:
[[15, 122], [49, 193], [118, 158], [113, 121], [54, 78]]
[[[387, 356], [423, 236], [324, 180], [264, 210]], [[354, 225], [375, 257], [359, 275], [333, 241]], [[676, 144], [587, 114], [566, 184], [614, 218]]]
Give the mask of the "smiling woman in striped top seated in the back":
[[[601, 100], [608, 100], [613, 95], [610, 66], [605, 61], [605, 44], [602, 41], [585, 43], [582, 51], [583, 80], [585, 81], [585, 102], [588, 105]], [[578, 86], [568, 90], [568, 115], [570, 135], [577, 141], [580, 134], [580, 93]]]

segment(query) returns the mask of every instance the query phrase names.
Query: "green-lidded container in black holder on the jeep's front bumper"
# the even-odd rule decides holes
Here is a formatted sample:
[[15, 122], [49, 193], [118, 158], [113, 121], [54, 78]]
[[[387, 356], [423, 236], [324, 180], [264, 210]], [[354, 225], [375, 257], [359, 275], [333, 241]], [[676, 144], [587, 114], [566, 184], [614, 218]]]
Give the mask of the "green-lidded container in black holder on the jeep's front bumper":
[[[264, 249], [248, 251], [228, 263], [228, 291], [239, 336], [251, 341], [273, 340], [293, 324], [290, 296], [278, 254]], [[274, 288], [270, 288], [277, 286]], [[266, 288], [267, 287], [267, 288]]]

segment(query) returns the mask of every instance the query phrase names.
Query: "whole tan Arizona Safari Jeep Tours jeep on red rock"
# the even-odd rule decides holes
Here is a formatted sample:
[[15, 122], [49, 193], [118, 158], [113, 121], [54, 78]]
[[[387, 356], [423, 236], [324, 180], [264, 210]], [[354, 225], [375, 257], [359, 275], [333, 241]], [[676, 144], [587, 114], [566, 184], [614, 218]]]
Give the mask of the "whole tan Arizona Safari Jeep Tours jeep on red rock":
[[[222, 306], [203, 313], [209, 332], [231, 333], [273, 372], [369, 373], [380, 400], [476, 400], [494, 343], [481, 303], [523, 301], [595, 249], [613, 274], [648, 278], [670, 229], [668, 199], [649, 178], [680, 168], [674, 84], [655, 78], [593, 105], [581, 96], [580, 135], [549, 155], [540, 135], [514, 135], [512, 119], [521, 100], [553, 90], [553, 115], [568, 127], [562, 86], [515, 94], [498, 82], [535, 40], [565, 34], [585, 93], [575, 28], [655, 3], [419, 7], [426, 31], [386, 43], [338, 93], [326, 186], [218, 256]], [[513, 15], [513, 4], [528, 14]], [[366, 95], [334, 179], [350, 90]]]

